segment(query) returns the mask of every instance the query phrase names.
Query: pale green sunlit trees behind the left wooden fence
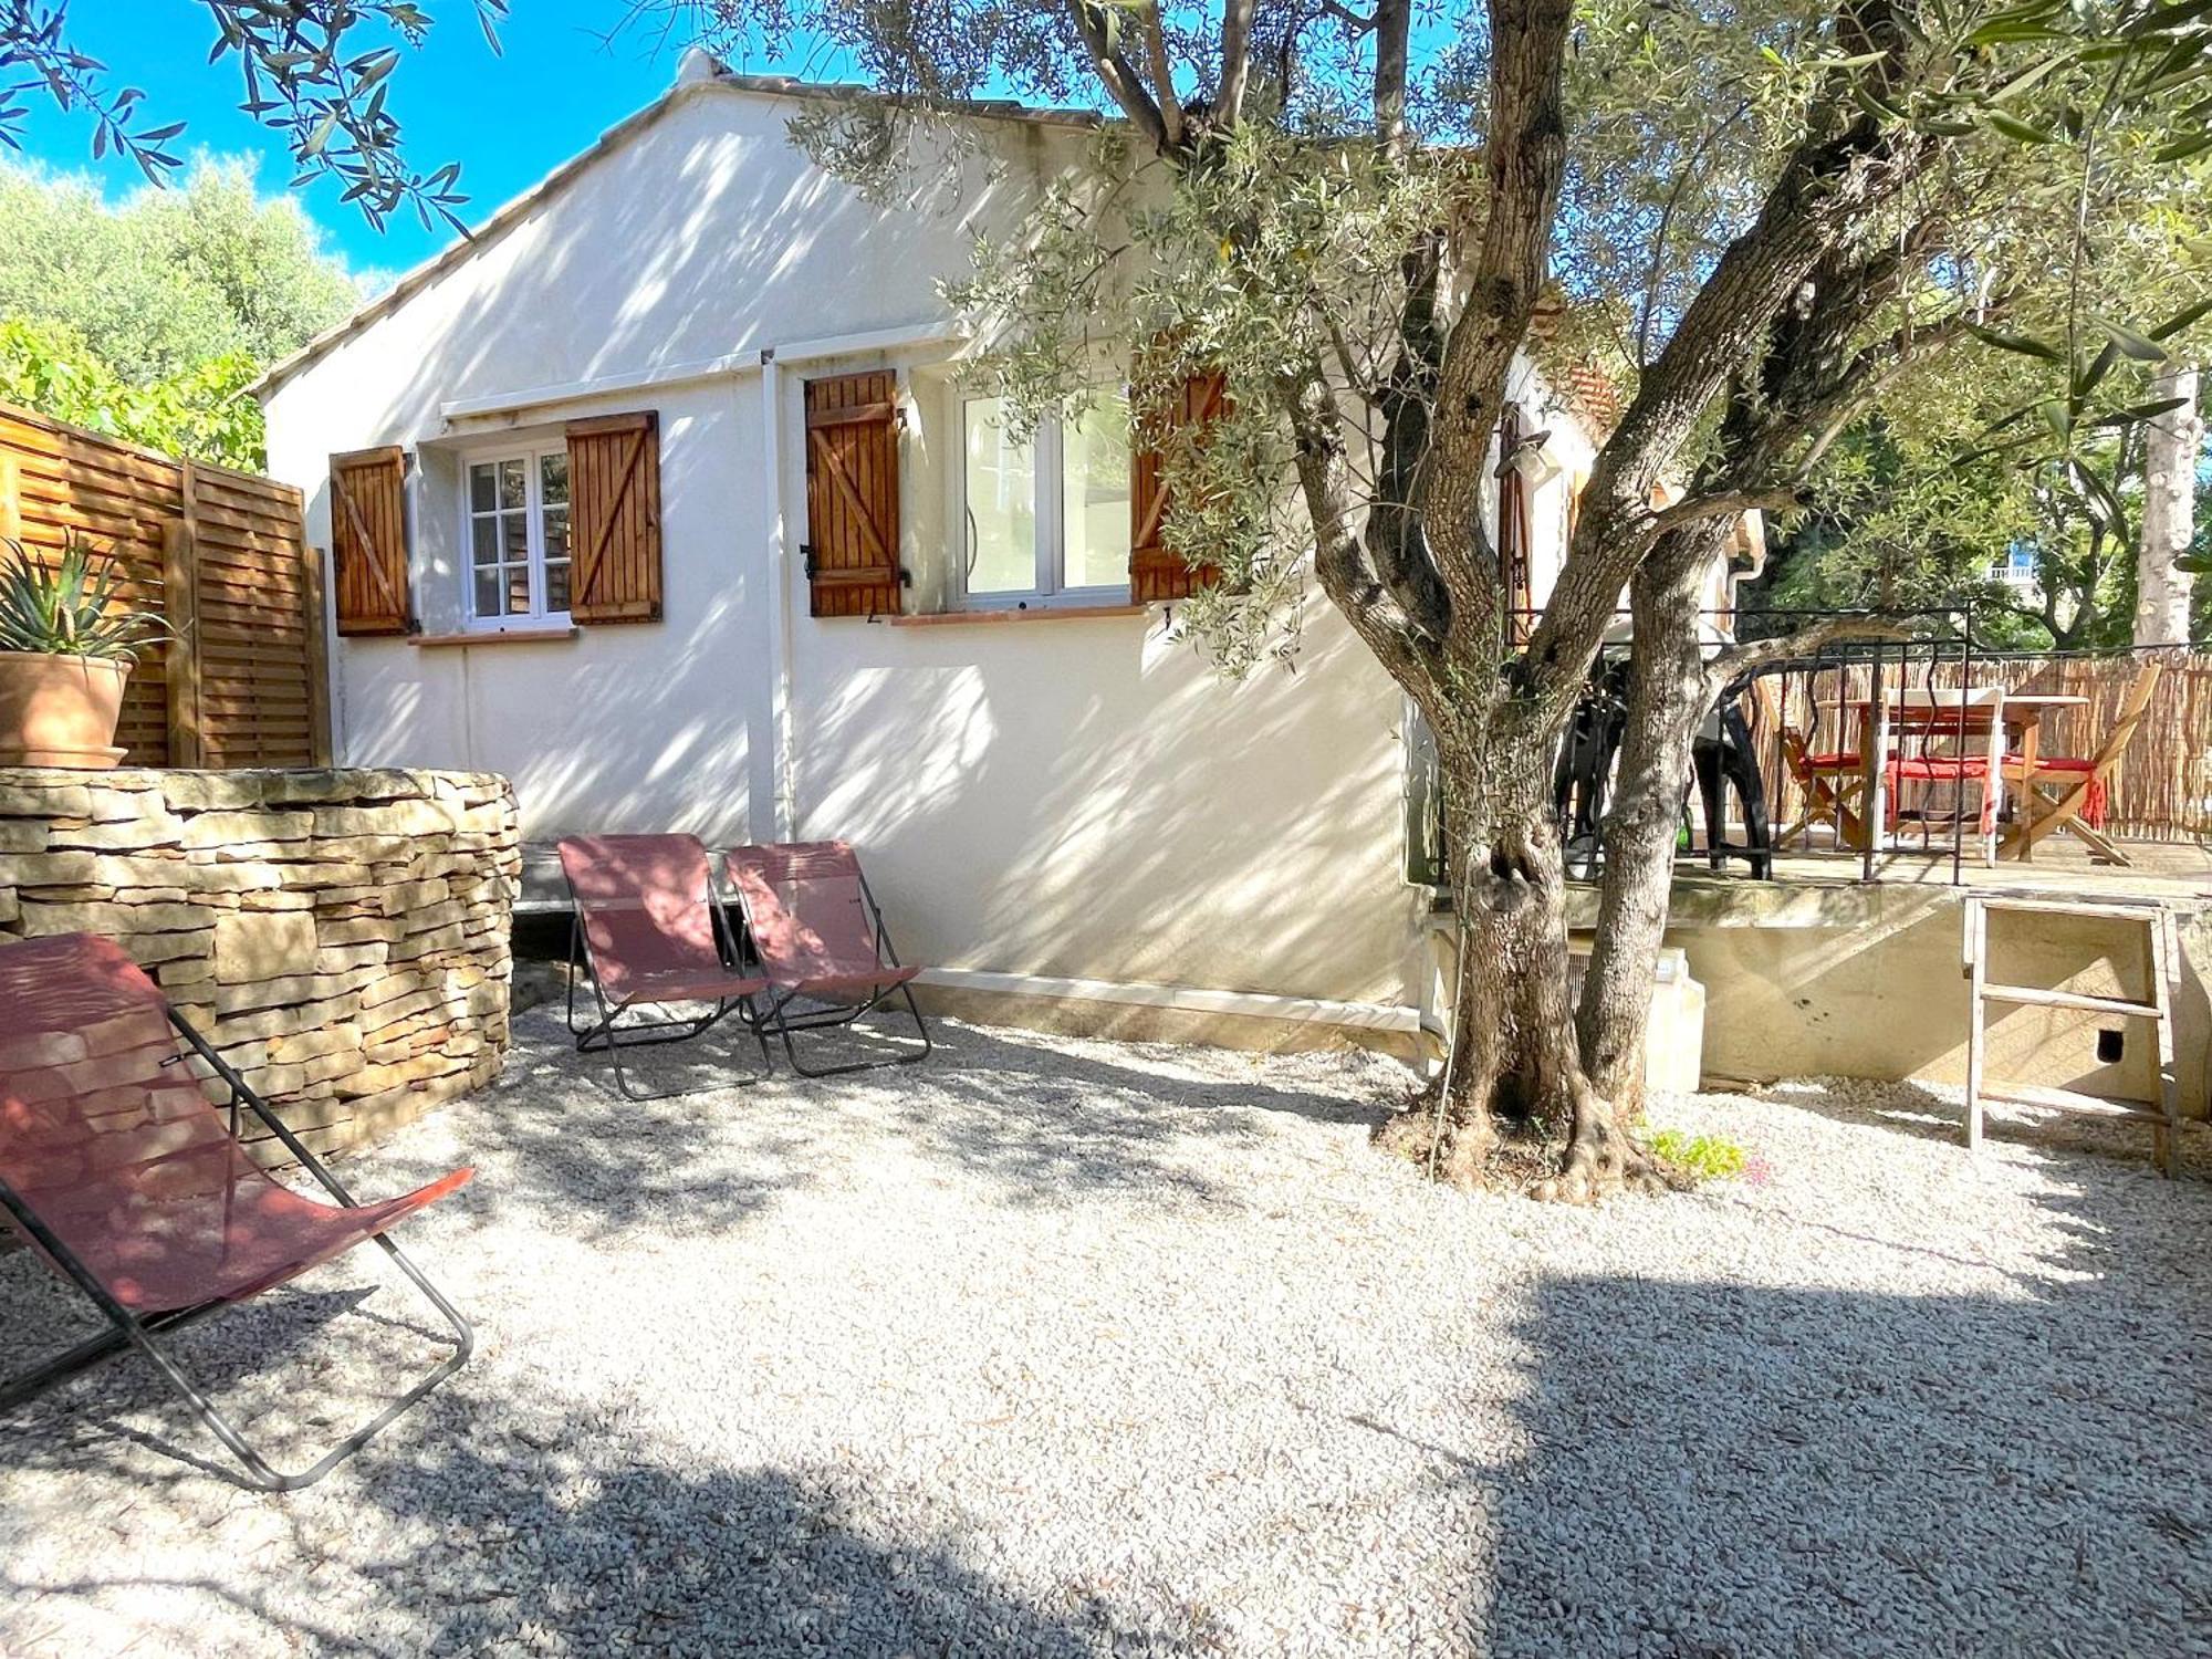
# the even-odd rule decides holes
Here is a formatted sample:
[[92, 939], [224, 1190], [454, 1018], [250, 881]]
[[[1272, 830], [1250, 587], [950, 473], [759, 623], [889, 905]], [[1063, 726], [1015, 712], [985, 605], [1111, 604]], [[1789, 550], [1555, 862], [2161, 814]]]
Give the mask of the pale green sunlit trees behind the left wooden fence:
[[111, 206], [82, 179], [0, 170], [0, 398], [195, 460], [261, 465], [274, 358], [361, 301], [290, 199], [243, 161]]

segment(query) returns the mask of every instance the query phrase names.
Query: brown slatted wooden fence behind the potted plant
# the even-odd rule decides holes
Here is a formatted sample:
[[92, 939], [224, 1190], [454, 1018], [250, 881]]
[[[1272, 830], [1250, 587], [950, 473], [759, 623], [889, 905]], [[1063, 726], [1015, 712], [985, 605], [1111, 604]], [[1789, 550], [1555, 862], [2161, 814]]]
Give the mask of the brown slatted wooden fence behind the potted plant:
[[301, 495], [0, 403], [0, 535], [80, 531], [175, 639], [131, 672], [126, 765], [330, 765], [323, 566]]

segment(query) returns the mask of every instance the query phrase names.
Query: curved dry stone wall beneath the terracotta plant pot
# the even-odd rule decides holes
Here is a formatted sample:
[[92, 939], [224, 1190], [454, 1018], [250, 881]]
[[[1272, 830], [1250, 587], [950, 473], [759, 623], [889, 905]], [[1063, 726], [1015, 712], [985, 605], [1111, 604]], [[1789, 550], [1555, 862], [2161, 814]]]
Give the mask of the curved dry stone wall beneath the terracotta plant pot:
[[0, 940], [119, 940], [314, 1150], [498, 1075], [520, 874], [487, 772], [0, 768]]

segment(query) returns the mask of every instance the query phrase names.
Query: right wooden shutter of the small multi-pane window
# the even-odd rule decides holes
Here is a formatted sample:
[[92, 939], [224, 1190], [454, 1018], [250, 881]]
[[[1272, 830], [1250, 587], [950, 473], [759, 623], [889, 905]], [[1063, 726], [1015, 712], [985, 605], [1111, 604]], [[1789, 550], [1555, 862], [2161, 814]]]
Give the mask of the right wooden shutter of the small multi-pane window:
[[568, 617], [661, 619], [661, 418], [568, 422]]

